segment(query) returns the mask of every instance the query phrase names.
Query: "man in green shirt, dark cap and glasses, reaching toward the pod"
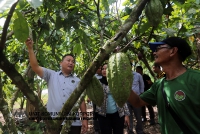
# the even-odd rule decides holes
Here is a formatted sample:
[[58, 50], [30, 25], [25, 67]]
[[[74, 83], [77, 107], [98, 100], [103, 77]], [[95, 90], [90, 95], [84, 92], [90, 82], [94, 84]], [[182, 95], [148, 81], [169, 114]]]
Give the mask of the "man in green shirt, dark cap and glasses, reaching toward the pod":
[[187, 69], [182, 64], [192, 53], [189, 44], [182, 38], [170, 37], [149, 45], [155, 63], [163, 68], [166, 78], [157, 80], [140, 96], [131, 92], [128, 101], [135, 107], [157, 105], [162, 134], [187, 133], [169, 112], [162, 93], [164, 90], [168, 104], [181, 119], [179, 124], [185, 124], [191, 134], [200, 134], [200, 71]]

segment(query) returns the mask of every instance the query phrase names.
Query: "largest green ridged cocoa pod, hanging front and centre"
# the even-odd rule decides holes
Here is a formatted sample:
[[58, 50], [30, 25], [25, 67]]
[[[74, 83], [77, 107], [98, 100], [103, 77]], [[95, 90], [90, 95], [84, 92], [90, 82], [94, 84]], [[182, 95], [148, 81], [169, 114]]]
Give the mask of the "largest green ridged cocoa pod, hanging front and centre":
[[127, 102], [133, 82], [132, 68], [125, 53], [114, 53], [108, 60], [106, 70], [110, 92], [119, 107]]

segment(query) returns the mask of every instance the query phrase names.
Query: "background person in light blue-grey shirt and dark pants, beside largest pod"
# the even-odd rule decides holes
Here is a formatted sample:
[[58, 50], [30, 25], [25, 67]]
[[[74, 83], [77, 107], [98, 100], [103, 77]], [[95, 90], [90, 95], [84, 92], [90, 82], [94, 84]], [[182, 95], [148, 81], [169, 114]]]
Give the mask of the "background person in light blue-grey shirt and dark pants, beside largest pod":
[[[131, 63], [132, 66], [132, 63]], [[140, 75], [137, 72], [133, 71], [133, 83], [132, 83], [132, 90], [135, 91], [137, 95], [140, 95], [144, 92], [144, 81], [142, 79], [142, 75]], [[135, 130], [137, 134], [143, 134], [143, 124], [142, 124], [142, 118], [141, 118], [141, 107], [133, 107], [129, 102], [127, 102], [129, 112], [130, 112], [130, 127], [128, 130], [128, 134], [133, 134], [133, 113], [135, 115], [135, 118], [137, 120], [137, 124], [135, 127]]]

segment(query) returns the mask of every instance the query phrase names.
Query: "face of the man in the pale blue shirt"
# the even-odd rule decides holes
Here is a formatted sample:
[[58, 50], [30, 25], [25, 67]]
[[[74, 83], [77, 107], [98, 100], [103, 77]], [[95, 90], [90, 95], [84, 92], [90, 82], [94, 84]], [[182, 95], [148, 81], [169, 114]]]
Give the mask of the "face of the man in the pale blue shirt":
[[75, 60], [72, 56], [66, 56], [60, 63], [63, 71], [72, 72], [74, 70]]

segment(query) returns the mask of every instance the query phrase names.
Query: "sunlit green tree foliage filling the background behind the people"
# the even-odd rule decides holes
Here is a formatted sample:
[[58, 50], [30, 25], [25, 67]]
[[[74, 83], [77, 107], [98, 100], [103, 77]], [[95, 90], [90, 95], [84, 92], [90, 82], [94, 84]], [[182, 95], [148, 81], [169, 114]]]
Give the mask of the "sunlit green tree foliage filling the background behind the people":
[[[193, 69], [200, 68], [200, 0], [161, 0], [161, 2], [164, 12], [159, 25], [152, 27], [142, 9], [141, 15], [117, 47], [127, 53], [134, 66], [143, 66], [145, 73], [152, 79], [154, 73], [151, 66], [154, 58], [148, 42], [161, 41], [169, 36], [180, 36], [188, 41], [193, 54], [184, 65]], [[41, 90], [46, 88], [45, 82], [31, 72], [24, 45], [28, 37], [34, 40], [34, 50], [41, 66], [59, 70], [62, 55], [73, 53], [76, 56], [74, 73], [83, 78], [98, 60], [98, 53], [103, 53], [104, 46], [109, 44], [119, 29], [126, 24], [137, 4], [136, 0], [4, 1], [0, 8], [0, 18], [6, 20], [0, 27], [1, 64], [7, 63], [5, 65], [11, 69], [5, 71], [3, 65], [1, 66], [0, 98], [5, 98], [5, 102], [12, 110], [17, 98], [20, 98], [21, 103], [24, 103], [24, 96], [29, 99], [29, 94], [35, 94], [40, 98]], [[10, 14], [12, 10], [13, 15]], [[100, 64], [95, 65], [93, 74]], [[12, 67], [15, 69], [14, 72]], [[19, 74], [22, 78], [19, 78]], [[17, 79], [19, 85], [13, 82], [13, 79]], [[21, 92], [23, 90], [19, 87], [30, 90], [24, 93], [25, 90]], [[40, 106], [39, 103], [33, 105]], [[0, 110], [4, 109], [1, 107]]]

